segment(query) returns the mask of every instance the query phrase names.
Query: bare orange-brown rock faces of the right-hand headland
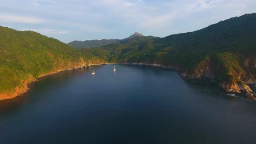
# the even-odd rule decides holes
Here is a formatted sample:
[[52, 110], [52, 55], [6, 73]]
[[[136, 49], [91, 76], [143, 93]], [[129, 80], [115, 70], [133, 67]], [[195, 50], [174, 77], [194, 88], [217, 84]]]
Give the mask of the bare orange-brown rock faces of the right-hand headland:
[[[256, 99], [256, 95], [249, 87], [249, 85], [256, 87], [256, 81], [253, 80], [252, 74], [241, 74], [240, 71], [236, 70], [237, 68], [228, 67], [229, 65], [224, 65], [220, 61], [213, 62], [212, 59], [212, 57], [207, 56], [204, 61], [196, 65], [193, 73], [189, 74], [188, 71], [185, 71], [181, 73], [181, 77], [194, 80], [216, 79], [220, 81], [219, 87], [222, 88], [225, 92], [245, 93], [246, 99]], [[249, 60], [247, 59], [246, 63], [248, 63], [248, 61]], [[229, 73], [226, 74], [226, 71], [223, 73], [223, 69], [229, 71]], [[228, 75], [230, 77], [228, 79], [224, 79], [223, 75]], [[248, 75], [251, 75], [251, 77], [248, 78]]]

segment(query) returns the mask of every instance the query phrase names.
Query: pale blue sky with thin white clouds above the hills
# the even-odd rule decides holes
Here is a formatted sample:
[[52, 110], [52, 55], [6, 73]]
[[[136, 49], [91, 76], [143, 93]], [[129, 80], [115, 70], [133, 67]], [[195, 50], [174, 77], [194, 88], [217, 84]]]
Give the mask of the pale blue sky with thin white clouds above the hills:
[[0, 0], [0, 26], [64, 43], [192, 32], [256, 13], [255, 0]]

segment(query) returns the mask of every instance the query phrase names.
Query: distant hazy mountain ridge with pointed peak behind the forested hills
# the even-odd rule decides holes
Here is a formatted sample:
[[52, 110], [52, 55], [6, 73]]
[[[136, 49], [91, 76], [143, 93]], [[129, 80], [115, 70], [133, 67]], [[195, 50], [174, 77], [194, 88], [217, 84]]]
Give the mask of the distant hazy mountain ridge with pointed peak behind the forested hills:
[[100, 47], [103, 45], [116, 43], [120, 40], [127, 40], [127, 39], [138, 38], [138, 37], [144, 37], [144, 35], [135, 32], [130, 37], [125, 38], [125, 39], [102, 39], [102, 40], [85, 40], [85, 41], [74, 40], [74, 41], [71, 41], [70, 43], [68, 43], [68, 45], [74, 47], [75, 49], [80, 50], [83, 48]]

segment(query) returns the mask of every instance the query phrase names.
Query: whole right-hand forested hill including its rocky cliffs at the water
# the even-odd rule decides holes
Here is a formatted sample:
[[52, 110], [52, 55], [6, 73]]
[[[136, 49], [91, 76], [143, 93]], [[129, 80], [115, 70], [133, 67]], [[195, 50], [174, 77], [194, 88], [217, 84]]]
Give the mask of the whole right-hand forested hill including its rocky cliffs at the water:
[[191, 79], [220, 81], [229, 92], [247, 93], [256, 82], [256, 13], [233, 17], [195, 32], [113, 43], [90, 51], [109, 62], [176, 67]]

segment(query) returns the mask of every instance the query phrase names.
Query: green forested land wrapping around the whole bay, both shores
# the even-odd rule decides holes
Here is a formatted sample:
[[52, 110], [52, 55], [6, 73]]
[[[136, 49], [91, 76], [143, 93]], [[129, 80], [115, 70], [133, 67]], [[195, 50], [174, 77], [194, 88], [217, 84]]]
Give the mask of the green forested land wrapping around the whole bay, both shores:
[[82, 51], [36, 32], [6, 27], [0, 32], [0, 99], [24, 92], [41, 75], [102, 62], [162, 64], [192, 78], [214, 77], [232, 86], [245, 86], [256, 77], [256, 14], [165, 38], [135, 33]]

